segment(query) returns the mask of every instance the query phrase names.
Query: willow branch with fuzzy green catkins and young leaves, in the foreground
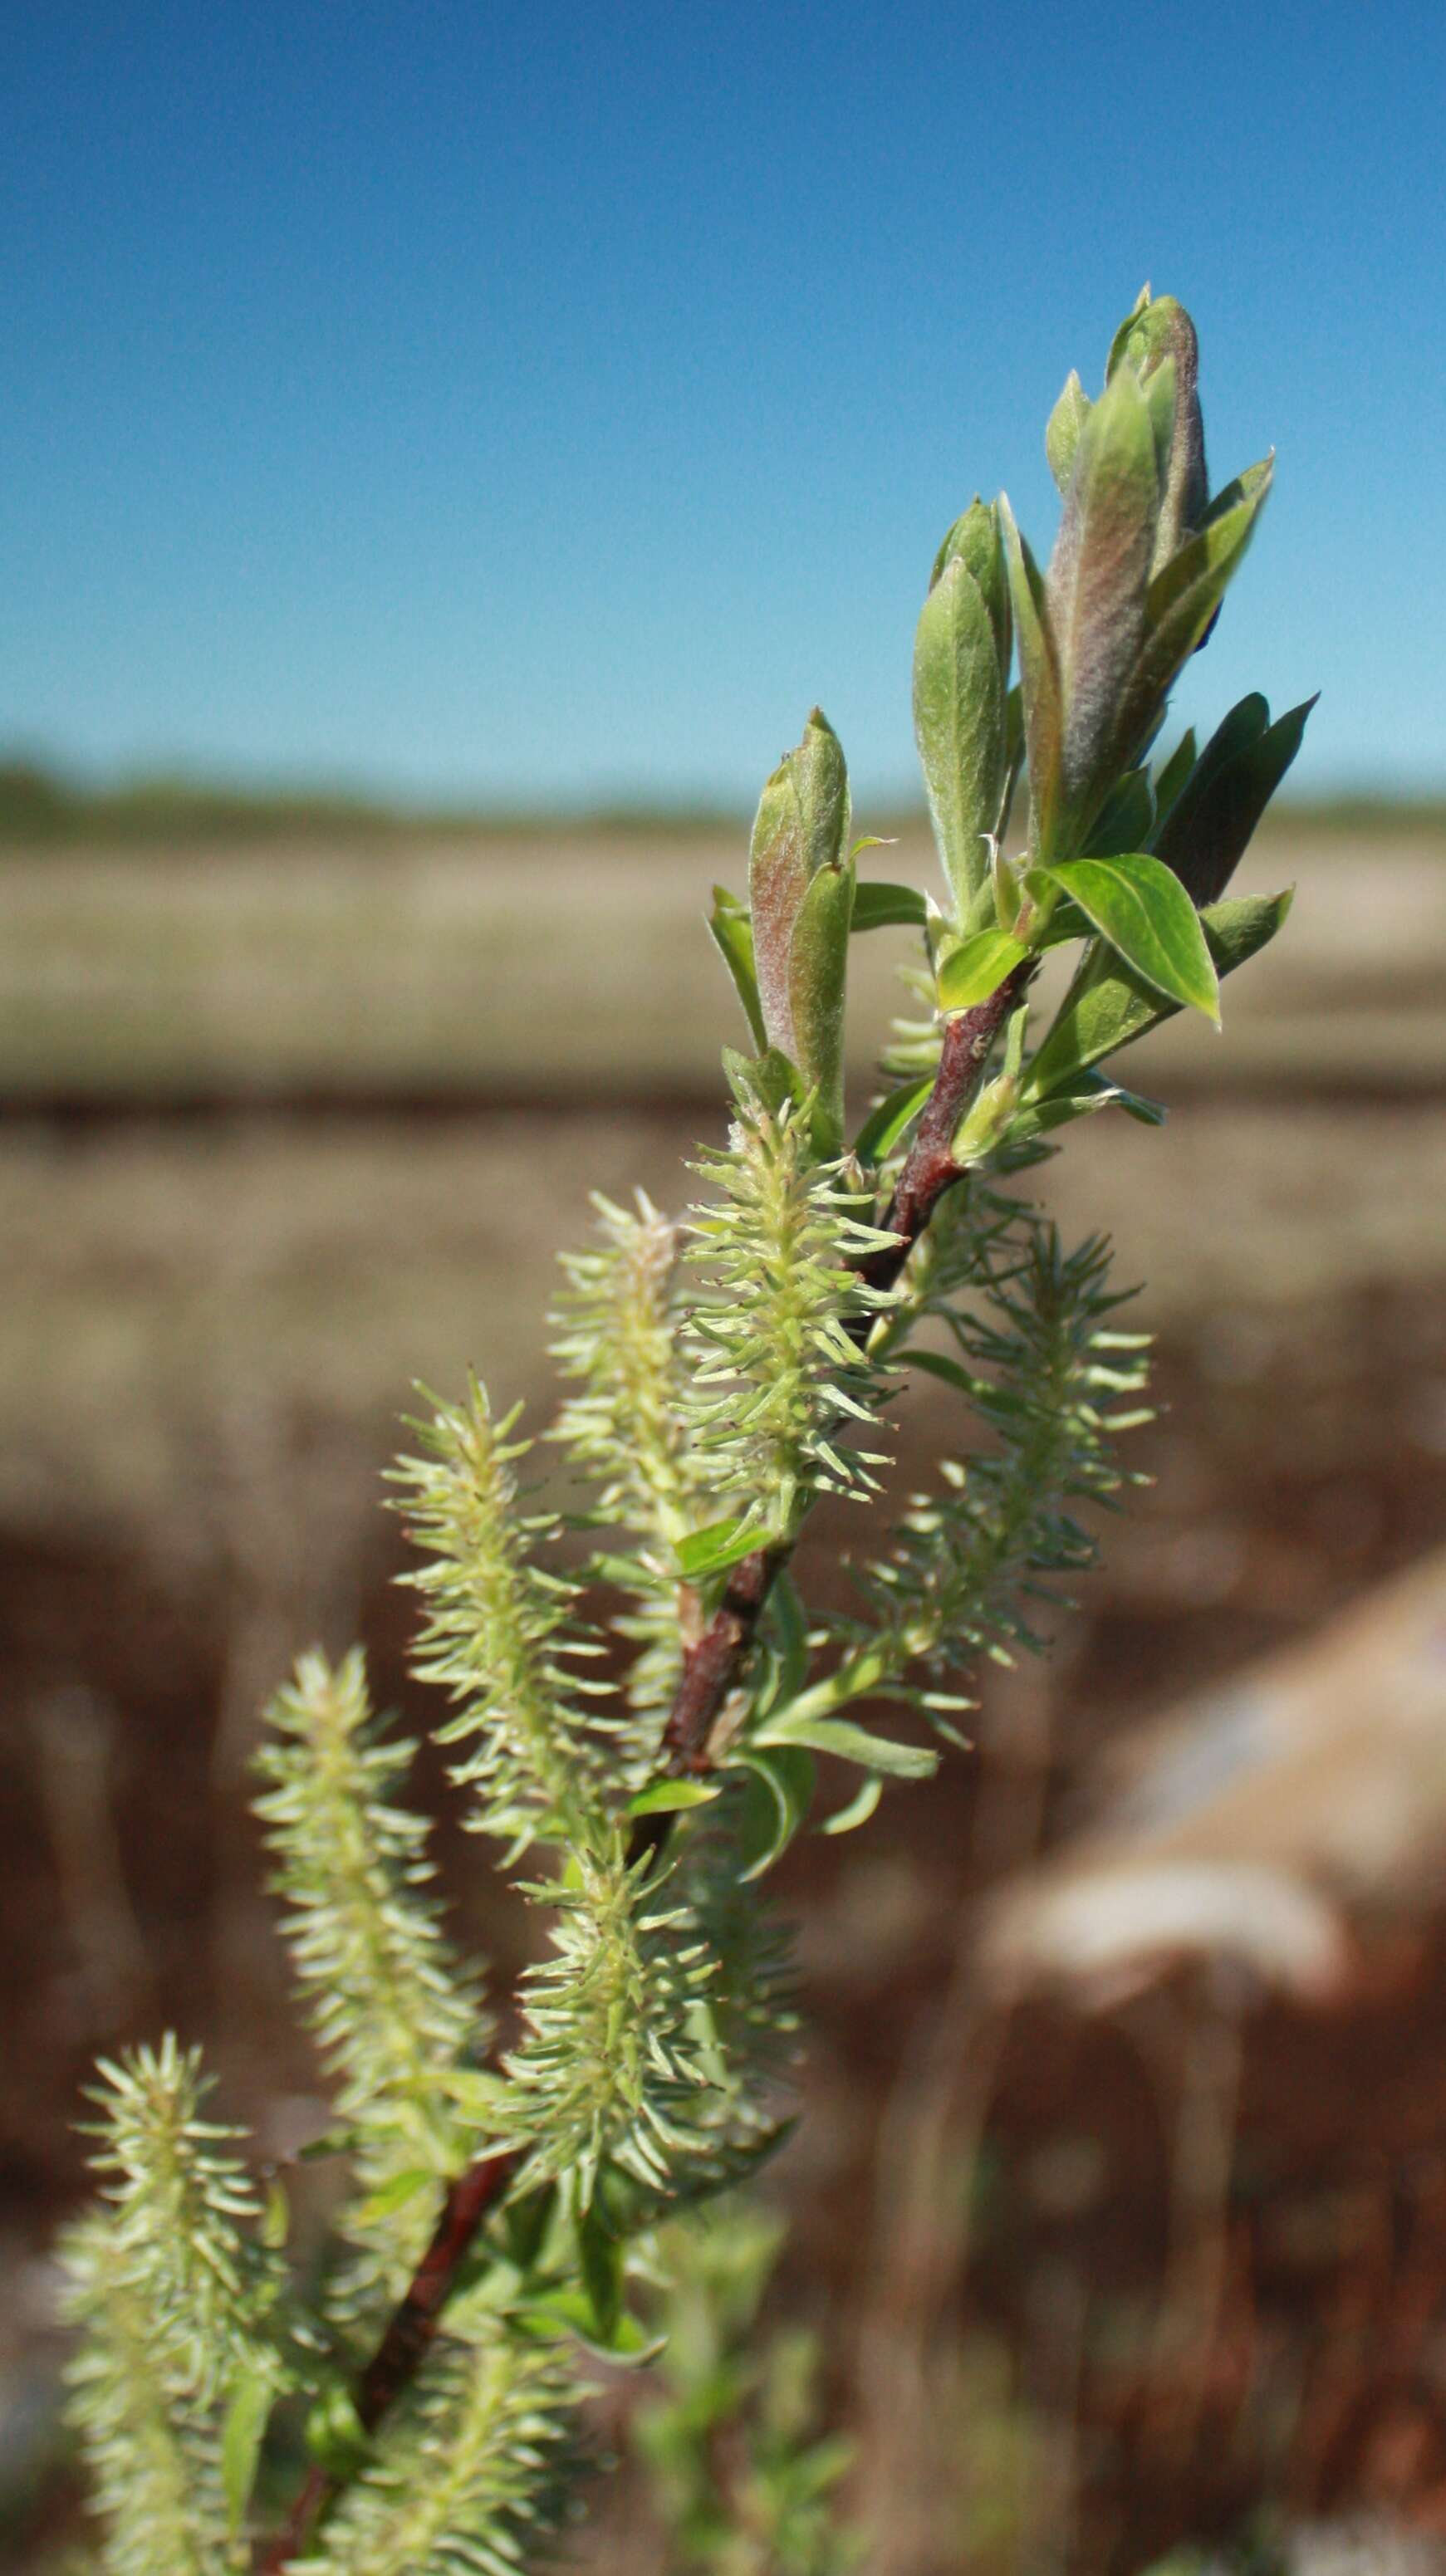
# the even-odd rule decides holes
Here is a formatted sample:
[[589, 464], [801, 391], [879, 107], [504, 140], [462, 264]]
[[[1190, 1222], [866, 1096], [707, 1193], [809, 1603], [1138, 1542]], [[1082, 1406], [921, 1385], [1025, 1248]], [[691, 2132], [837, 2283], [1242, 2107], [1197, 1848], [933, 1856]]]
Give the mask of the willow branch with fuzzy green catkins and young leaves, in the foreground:
[[[541, 1914], [539, 1963], [485, 1999], [402, 1803], [412, 1744], [358, 1654], [307, 1654], [271, 1708], [260, 1819], [335, 2099], [320, 2151], [345, 2159], [330, 2251], [289, 2259], [284, 2192], [209, 2117], [193, 2053], [101, 2069], [101, 2195], [64, 2259], [113, 2576], [539, 2566], [595, 2476], [598, 2357], [644, 2365], [670, 2324], [670, 2396], [639, 2421], [673, 2563], [853, 2563], [794, 2362], [740, 2362], [758, 2228], [699, 2236], [791, 2125], [768, 1873], [820, 1811], [840, 1834], [928, 1783], [974, 1667], [1034, 1646], [1093, 1561], [1144, 1342], [1106, 1247], [1065, 1247], [1021, 1175], [1077, 1118], [1160, 1121], [1116, 1056], [1178, 1010], [1217, 1020], [1281, 927], [1289, 896], [1224, 886], [1307, 719], [1250, 696], [1152, 757], [1271, 489], [1266, 461], [1209, 495], [1181, 304], [1139, 296], [1046, 453], [1049, 569], [1003, 495], [974, 500], [918, 623], [941, 886], [858, 876], [822, 714], [763, 788], [747, 899], [711, 912], [747, 1033], [724, 1048], [727, 1146], [691, 1213], [595, 1200], [562, 1262], [546, 1437], [580, 1510], [539, 1504], [518, 1417], [477, 1381], [425, 1399], [394, 1468], [420, 1695], [469, 1826]], [[882, 925], [918, 933], [923, 1012], [851, 1133], [845, 971]], [[1072, 976], [1044, 1015], [1054, 948]], [[889, 1517], [915, 1370], [949, 1455]], [[856, 1504], [848, 1618], [794, 1579], [822, 1494]], [[753, 2434], [729, 2494], [711, 2434], [735, 2401]]]

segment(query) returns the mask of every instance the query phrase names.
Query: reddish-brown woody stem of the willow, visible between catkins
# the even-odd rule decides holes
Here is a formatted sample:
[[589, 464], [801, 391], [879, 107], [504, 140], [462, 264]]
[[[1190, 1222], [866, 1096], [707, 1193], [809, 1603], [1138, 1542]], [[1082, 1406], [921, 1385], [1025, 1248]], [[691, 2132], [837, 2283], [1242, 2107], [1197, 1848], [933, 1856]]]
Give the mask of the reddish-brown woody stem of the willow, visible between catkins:
[[[871, 1288], [894, 1285], [938, 1200], [951, 1182], [961, 1177], [961, 1164], [954, 1162], [954, 1133], [972, 1100], [1000, 1025], [1031, 974], [1034, 961], [1016, 966], [987, 1002], [977, 1002], [974, 1010], [961, 1010], [946, 1020], [938, 1074], [915, 1128], [905, 1170], [900, 1172], [889, 1216], [884, 1218], [889, 1231], [900, 1239], [887, 1244], [882, 1252], [871, 1252], [869, 1260], [861, 1262], [861, 1278], [866, 1278]], [[861, 1332], [869, 1329], [869, 1316], [861, 1319]], [[745, 1556], [729, 1571], [724, 1595], [709, 1625], [696, 1643], [686, 1649], [683, 1674], [662, 1728], [660, 1767], [670, 1777], [701, 1780], [711, 1770], [711, 1731], [727, 1698], [742, 1677], [768, 1592], [773, 1589], [781, 1569], [789, 1564], [789, 1553], [791, 1548], [773, 1546], [755, 1548], [753, 1556]], [[668, 1842], [670, 1824], [670, 1816], [642, 1816], [629, 1844], [629, 1862], [637, 1862], [650, 1852], [657, 1855]], [[356, 2414], [363, 2432], [376, 2432], [381, 2416], [415, 2378], [438, 2331], [441, 2313], [451, 2298], [461, 2264], [472, 2251], [477, 2231], [505, 2195], [518, 2161], [516, 2151], [503, 2156], [479, 2156], [477, 2164], [469, 2164], [467, 2172], [451, 2184], [428, 2251], [423, 2254], [400, 2306], [392, 2311], [381, 2342], [356, 2385]], [[258, 2576], [284, 2576], [284, 2568], [289, 2568], [307, 2545], [338, 2491], [340, 2481], [333, 2478], [330, 2470], [309, 2470], [296, 2501], [291, 2504], [284, 2530], [260, 2561]]]

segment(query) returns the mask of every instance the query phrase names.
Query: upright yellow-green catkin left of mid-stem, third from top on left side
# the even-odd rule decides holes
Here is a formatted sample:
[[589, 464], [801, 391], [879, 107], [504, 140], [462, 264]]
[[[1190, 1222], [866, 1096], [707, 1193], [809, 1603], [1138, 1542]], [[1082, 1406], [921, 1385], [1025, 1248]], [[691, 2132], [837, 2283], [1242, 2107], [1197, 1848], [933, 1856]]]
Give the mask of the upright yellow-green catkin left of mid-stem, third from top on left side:
[[477, 1795], [474, 1829], [510, 1857], [534, 1842], [593, 1844], [603, 1832], [583, 1685], [559, 1664], [593, 1649], [567, 1623], [575, 1587], [528, 1556], [554, 1520], [516, 1510], [513, 1466], [531, 1448], [508, 1437], [516, 1419], [495, 1422], [472, 1378], [464, 1406], [438, 1404], [418, 1425], [425, 1455], [392, 1468], [407, 1535], [428, 1553], [402, 1577], [423, 1595], [412, 1672], [456, 1703], [436, 1739], [472, 1747], [451, 1777]]

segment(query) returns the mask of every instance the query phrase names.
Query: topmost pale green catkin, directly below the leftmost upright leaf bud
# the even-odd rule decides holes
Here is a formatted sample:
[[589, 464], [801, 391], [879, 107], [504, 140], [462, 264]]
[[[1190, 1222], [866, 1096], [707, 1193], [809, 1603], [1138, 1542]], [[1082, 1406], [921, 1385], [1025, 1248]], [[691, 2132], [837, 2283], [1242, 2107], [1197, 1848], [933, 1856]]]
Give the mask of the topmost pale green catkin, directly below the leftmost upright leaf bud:
[[717, 1198], [693, 1218], [693, 1440], [714, 1494], [742, 1497], [747, 1517], [786, 1538], [815, 1494], [863, 1497], [884, 1463], [845, 1425], [874, 1422], [879, 1373], [861, 1342], [894, 1291], [869, 1288], [851, 1262], [894, 1236], [858, 1218], [863, 1200], [838, 1164], [812, 1159], [807, 1115], [789, 1103], [740, 1115], [727, 1154], [699, 1170]]

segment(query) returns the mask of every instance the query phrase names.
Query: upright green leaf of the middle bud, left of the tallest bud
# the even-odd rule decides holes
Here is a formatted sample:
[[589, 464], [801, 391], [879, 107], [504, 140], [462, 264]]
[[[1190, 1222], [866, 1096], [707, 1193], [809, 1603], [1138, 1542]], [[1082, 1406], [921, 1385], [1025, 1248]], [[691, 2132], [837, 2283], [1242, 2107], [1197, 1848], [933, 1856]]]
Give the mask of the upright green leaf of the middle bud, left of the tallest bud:
[[[998, 536], [992, 544], [998, 551]], [[912, 688], [928, 811], [959, 920], [990, 873], [1005, 786], [1005, 670], [985, 592], [956, 554], [920, 611]]]

